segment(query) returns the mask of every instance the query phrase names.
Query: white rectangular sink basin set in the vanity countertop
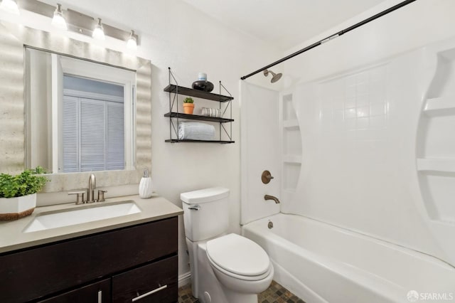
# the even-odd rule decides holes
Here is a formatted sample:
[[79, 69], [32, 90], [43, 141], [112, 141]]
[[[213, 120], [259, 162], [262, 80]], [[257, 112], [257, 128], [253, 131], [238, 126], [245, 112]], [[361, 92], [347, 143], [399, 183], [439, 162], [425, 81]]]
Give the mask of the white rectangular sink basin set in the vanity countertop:
[[51, 228], [116, 218], [140, 212], [141, 209], [137, 207], [134, 201], [122, 201], [104, 205], [100, 203], [82, 206], [68, 211], [41, 213], [27, 225], [23, 232], [31, 233], [38, 230], [48, 230]]

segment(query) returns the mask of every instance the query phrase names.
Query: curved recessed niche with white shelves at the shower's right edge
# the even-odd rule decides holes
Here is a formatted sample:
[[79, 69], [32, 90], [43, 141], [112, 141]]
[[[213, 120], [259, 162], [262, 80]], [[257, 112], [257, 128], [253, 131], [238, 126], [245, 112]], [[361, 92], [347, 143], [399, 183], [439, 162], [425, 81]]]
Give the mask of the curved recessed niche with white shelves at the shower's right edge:
[[424, 95], [417, 132], [422, 202], [434, 236], [455, 264], [455, 38], [429, 46], [432, 82]]

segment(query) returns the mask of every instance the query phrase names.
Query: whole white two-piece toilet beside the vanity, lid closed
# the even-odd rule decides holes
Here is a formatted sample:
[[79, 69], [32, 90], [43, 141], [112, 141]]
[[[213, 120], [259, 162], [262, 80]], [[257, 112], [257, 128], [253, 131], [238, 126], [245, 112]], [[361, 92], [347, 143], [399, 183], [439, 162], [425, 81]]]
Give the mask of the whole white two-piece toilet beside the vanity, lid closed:
[[203, 303], [257, 303], [273, 279], [267, 252], [230, 233], [229, 189], [181, 193], [193, 296]]

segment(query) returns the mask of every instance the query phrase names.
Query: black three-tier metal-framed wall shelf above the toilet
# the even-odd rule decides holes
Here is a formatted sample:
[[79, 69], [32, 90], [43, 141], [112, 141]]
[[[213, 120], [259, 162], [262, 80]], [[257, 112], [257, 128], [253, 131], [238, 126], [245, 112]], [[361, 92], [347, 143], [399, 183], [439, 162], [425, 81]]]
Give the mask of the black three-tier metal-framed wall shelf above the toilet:
[[[174, 78], [171, 68], [169, 69], [169, 85], [164, 88], [165, 92], [169, 93], [169, 112], [164, 114], [164, 117], [169, 118], [169, 139], [165, 142], [178, 143], [178, 142], [200, 142], [200, 143], [218, 143], [218, 144], [229, 144], [235, 143], [232, 140], [232, 100], [234, 97], [230, 95], [230, 92], [226, 90], [226, 87], [221, 84], [220, 81], [220, 93], [213, 94], [211, 92], [204, 92], [203, 90], [193, 90], [192, 88], [179, 86], [176, 78]], [[171, 84], [171, 78], [176, 83]], [[229, 96], [221, 95], [221, 89], [224, 89], [228, 92]], [[200, 99], [216, 101], [219, 103], [219, 110], [224, 115], [227, 110], [230, 110], [230, 117], [208, 117], [201, 115], [188, 115], [178, 112], [178, 95], [186, 95], [190, 97], [198, 97]], [[223, 105], [222, 107], [222, 104]], [[199, 120], [199, 121], [208, 121], [208, 122], [217, 122], [219, 123], [219, 139], [218, 140], [193, 140], [193, 139], [178, 139], [178, 125], [181, 123], [181, 119], [190, 119], [190, 120]], [[230, 132], [225, 128], [225, 124], [229, 123]], [[224, 132], [223, 132], [224, 131]], [[174, 139], [174, 138], [177, 139]], [[224, 137], [224, 139], [223, 139]]]

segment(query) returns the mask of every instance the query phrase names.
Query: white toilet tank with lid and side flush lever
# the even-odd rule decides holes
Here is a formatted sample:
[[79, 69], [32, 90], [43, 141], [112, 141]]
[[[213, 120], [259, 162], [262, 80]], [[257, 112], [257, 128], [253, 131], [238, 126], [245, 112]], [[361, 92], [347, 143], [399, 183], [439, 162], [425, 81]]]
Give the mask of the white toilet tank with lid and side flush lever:
[[221, 235], [229, 227], [229, 189], [213, 187], [181, 193], [186, 238], [195, 242]]

